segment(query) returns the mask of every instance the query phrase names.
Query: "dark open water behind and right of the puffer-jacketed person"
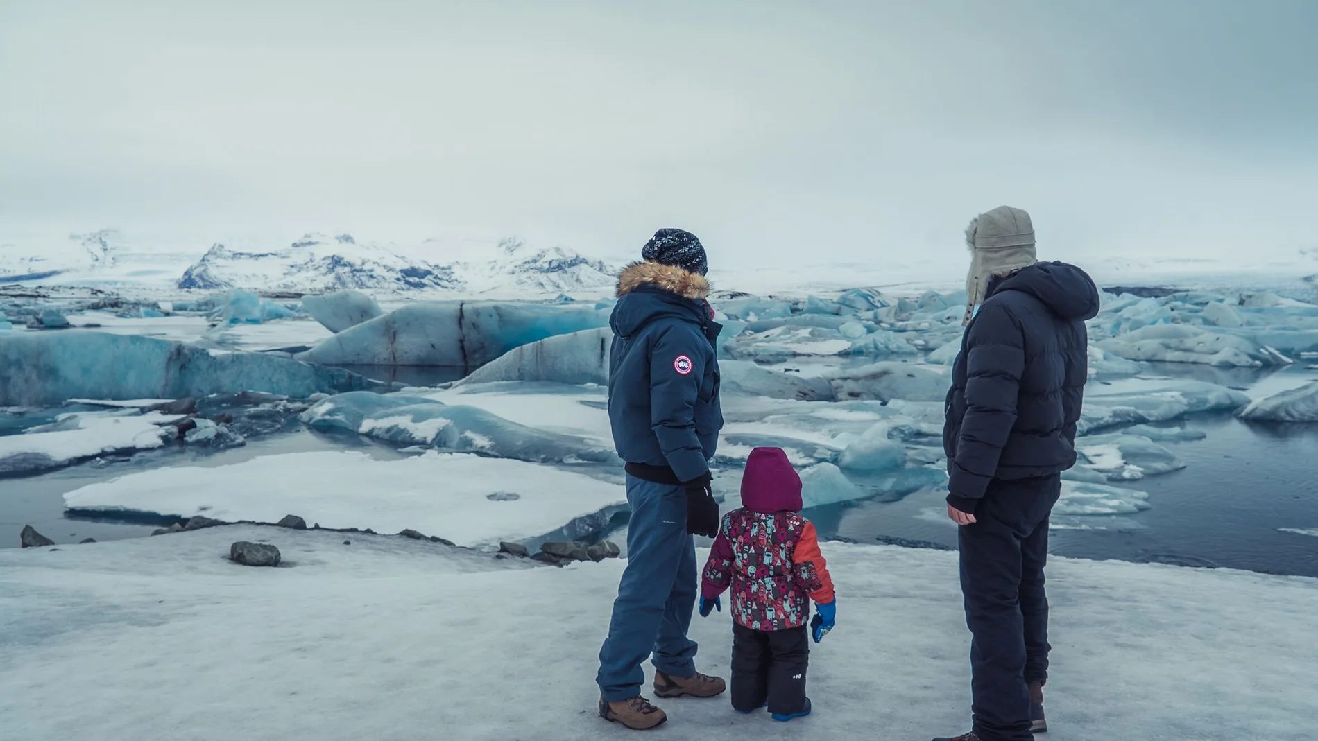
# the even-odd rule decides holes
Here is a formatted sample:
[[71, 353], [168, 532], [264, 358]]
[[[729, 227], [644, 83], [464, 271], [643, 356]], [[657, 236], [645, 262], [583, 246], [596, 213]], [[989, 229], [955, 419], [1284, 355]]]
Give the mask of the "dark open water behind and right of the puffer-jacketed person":
[[[1302, 366], [1280, 374], [1206, 367], [1159, 369], [1256, 390], [1294, 386]], [[1271, 391], [1265, 391], [1271, 392]], [[1318, 537], [1280, 528], [1318, 528], [1318, 424], [1247, 424], [1231, 415], [1191, 416], [1205, 440], [1160, 442], [1186, 465], [1180, 471], [1112, 486], [1149, 494], [1135, 515], [1068, 517], [1093, 529], [1053, 529], [1049, 550], [1077, 558], [1116, 558], [1186, 566], [1318, 576]], [[858, 542], [876, 537], [956, 546], [942, 491], [902, 501], [865, 501], [808, 512], [821, 534]], [[1099, 529], [1102, 528], [1102, 529]]]

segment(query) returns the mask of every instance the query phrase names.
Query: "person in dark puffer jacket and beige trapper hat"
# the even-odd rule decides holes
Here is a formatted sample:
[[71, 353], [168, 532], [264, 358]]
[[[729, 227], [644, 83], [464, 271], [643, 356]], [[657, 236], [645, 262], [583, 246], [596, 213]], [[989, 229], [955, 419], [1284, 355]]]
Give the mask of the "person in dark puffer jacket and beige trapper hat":
[[974, 734], [1029, 741], [1031, 730], [1046, 729], [1048, 517], [1061, 473], [1075, 465], [1089, 372], [1085, 321], [1098, 315], [1099, 297], [1083, 270], [1036, 262], [1033, 226], [1021, 209], [981, 215], [966, 241], [967, 326], [942, 442], [974, 634]]

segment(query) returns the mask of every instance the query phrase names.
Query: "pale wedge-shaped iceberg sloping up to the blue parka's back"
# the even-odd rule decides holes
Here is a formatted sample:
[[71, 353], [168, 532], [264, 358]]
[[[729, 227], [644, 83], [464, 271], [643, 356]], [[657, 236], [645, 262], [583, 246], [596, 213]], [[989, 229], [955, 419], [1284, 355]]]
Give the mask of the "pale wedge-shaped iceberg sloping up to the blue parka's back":
[[[613, 330], [608, 326], [556, 334], [509, 350], [493, 362], [476, 369], [455, 387], [509, 380], [604, 386], [609, 383], [612, 344]], [[725, 372], [725, 383], [726, 378]]]

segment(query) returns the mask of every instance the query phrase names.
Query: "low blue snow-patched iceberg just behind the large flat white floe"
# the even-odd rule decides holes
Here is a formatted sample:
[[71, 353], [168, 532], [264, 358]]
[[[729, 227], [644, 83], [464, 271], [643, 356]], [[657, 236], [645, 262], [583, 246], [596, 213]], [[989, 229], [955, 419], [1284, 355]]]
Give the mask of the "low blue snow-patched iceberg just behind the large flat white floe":
[[531, 463], [622, 463], [612, 449], [581, 437], [519, 425], [478, 407], [406, 395], [340, 394], [299, 419], [315, 429], [343, 429], [403, 447], [428, 445]]

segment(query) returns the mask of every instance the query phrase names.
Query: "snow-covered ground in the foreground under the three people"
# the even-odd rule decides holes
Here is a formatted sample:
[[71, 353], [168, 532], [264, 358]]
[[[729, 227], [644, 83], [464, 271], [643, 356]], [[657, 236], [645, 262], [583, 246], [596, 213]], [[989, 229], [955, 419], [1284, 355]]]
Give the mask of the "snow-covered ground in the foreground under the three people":
[[[277, 545], [285, 566], [228, 562], [239, 540]], [[726, 698], [670, 700], [656, 738], [969, 728], [956, 554], [824, 553], [840, 611], [811, 652], [815, 715], [776, 724]], [[630, 738], [594, 712], [622, 567], [244, 525], [0, 551], [0, 728], [42, 741]], [[1054, 558], [1049, 596], [1050, 736], [1313, 737], [1314, 579]], [[726, 677], [728, 613], [696, 617], [692, 634], [700, 669]]]

